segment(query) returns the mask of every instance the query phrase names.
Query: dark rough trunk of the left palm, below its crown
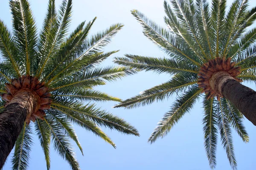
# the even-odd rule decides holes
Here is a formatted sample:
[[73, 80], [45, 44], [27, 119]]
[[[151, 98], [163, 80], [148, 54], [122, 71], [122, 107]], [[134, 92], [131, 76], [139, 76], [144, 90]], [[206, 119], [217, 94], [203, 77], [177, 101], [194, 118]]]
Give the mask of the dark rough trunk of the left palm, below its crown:
[[40, 97], [35, 91], [21, 89], [0, 113], [0, 169], [15, 145], [26, 117], [40, 107]]

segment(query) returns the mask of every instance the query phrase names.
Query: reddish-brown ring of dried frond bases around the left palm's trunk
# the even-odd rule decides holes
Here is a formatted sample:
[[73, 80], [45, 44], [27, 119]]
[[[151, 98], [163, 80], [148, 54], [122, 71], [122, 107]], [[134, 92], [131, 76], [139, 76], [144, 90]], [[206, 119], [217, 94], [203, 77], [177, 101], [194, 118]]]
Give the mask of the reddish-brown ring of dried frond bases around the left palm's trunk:
[[38, 111], [35, 111], [35, 113], [32, 113], [31, 116], [26, 119], [26, 123], [29, 124], [30, 121], [35, 122], [36, 118], [44, 120], [44, 110], [50, 109], [50, 104], [52, 102], [52, 99], [49, 98], [51, 94], [48, 92], [48, 88], [44, 86], [44, 83], [45, 82], [38, 81], [37, 77], [23, 75], [18, 79], [12, 79], [12, 84], [6, 83], [7, 94], [1, 94], [0, 96], [6, 101], [6, 106], [12, 100], [15, 93], [20, 89], [30, 89], [35, 91], [38, 96], [40, 96], [41, 105]]

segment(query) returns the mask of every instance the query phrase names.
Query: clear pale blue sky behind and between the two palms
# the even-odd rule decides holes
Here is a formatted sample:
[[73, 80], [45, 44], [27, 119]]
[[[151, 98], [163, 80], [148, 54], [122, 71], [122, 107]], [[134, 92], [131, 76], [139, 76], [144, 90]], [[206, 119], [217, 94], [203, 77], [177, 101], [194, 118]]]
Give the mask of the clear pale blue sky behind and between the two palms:
[[[40, 29], [47, 10], [47, 0], [29, 0], [35, 16], [37, 26]], [[230, 5], [233, 0], [227, 0]], [[8, 0], [1, 0], [0, 19], [11, 28], [11, 16]], [[61, 0], [56, 0], [56, 7]], [[256, 0], [250, 0], [253, 5]], [[122, 57], [124, 54], [138, 54], [143, 56], [167, 57], [143, 34], [139, 23], [132, 17], [130, 10], [138, 9], [151, 20], [164, 26], [163, 0], [73, 0], [73, 17], [70, 30], [73, 30], [84, 20], [92, 20], [97, 16], [92, 33], [104, 30], [113, 23], [124, 23], [123, 29], [116, 35], [112, 43], [105, 51], [120, 50], [104, 65], [113, 65], [113, 57]], [[254, 25], [255, 26], [255, 25]], [[140, 91], [151, 88], [171, 77], [166, 74], [154, 74], [153, 72], [140, 72], [131, 77], [125, 77], [117, 82], [108, 83], [97, 89], [108, 94], [127, 99]], [[247, 84], [248, 85], [248, 84]], [[249, 84], [255, 88], [255, 84]], [[92, 133], [76, 127], [76, 132], [84, 150], [84, 156], [79, 149], [77, 159], [81, 169], [85, 170], [210, 170], [207, 156], [204, 150], [204, 135], [202, 128], [203, 109], [201, 101], [171, 130], [163, 139], [158, 139], [154, 144], [148, 144], [147, 139], [163, 114], [169, 110], [175, 96], [164, 102], [155, 102], [152, 105], [131, 110], [123, 108], [111, 109], [116, 102], [99, 103], [102, 108], [124, 118], [137, 127], [140, 137], [126, 136], [108, 129], [105, 132], [117, 145], [114, 149], [110, 144], [94, 136]], [[256, 161], [256, 127], [244, 120], [250, 142], [245, 144], [236, 133], [233, 133], [233, 142], [238, 162], [238, 170], [255, 170]], [[11, 169], [10, 154], [3, 170]], [[51, 149], [51, 169], [70, 170], [68, 163]], [[44, 154], [34, 136], [32, 152], [30, 154], [29, 170], [45, 170]], [[216, 170], [230, 170], [231, 167], [220, 139], [217, 148]]]

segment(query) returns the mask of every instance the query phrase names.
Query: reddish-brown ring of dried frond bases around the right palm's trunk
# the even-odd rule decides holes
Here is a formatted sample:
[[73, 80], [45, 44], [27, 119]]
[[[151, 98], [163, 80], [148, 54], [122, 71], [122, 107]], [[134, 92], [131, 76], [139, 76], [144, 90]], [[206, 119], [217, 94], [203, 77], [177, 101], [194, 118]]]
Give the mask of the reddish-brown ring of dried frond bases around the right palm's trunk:
[[203, 67], [201, 67], [201, 70], [198, 74], [198, 87], [204, 88], [202, 93], [207, 94], [207, 99], [217, 97], [218, 100], [220, 100], [221, 97], [223, 97], [220, 93], [212, 89], [210, 86], [210, 78], [212, 75], [216, 72], [224, 71], [230, 74], [231, 77], [236, 79], [238, 82], [243, 82], [243, 80], [236, 78], [241, 71], [241, 67], [234, 67], [235, 62], [231, 62], [231, 58], [228, 58], [225, 60], [225, 58], [215, 58], [210, 59], [207, 63], [204, 63]]

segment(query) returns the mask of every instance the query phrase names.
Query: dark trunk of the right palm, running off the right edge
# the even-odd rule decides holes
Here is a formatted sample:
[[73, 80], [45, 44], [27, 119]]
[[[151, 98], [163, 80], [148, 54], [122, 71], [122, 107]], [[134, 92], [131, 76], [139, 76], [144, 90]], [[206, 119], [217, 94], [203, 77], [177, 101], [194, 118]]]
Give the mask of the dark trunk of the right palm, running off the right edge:
[[256, 126], [256, 91], [237, 82], [226, 72], [213, 74], [210, 85], [215, 91], [229, 99]]

